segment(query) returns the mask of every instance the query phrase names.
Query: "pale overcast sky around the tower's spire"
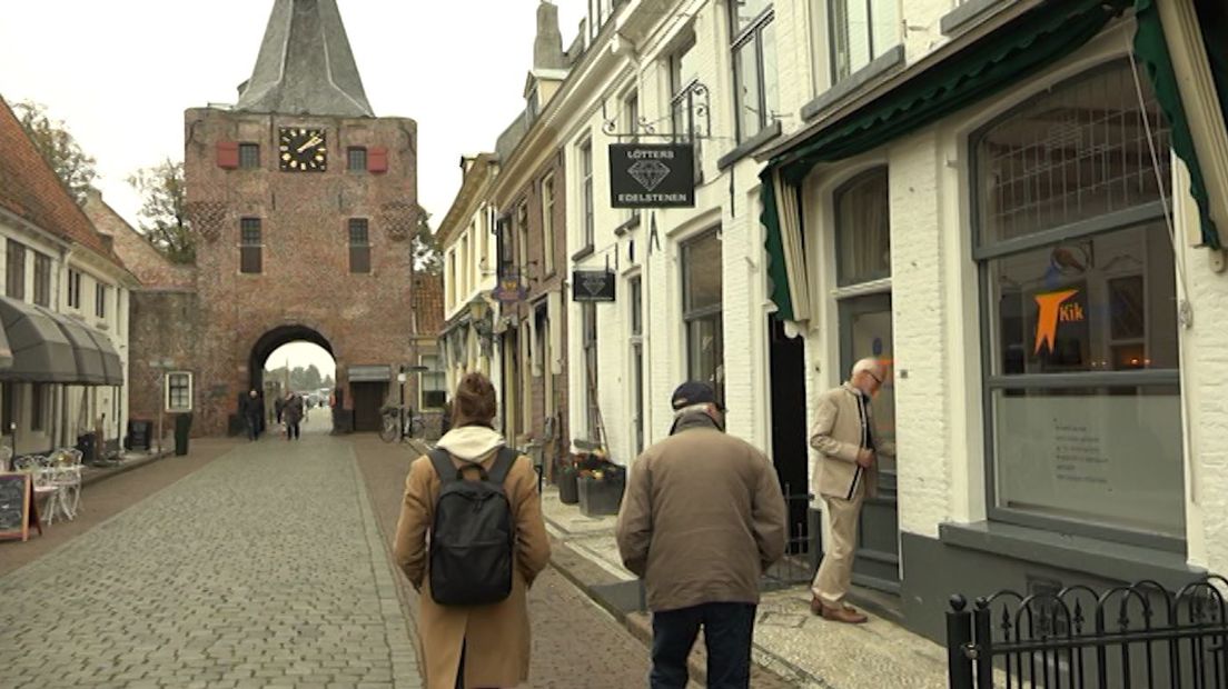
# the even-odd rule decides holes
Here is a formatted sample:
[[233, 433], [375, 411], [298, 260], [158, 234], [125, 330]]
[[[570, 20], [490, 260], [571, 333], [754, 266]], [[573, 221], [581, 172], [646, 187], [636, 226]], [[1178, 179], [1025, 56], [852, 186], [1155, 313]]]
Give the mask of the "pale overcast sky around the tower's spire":
[[[538, 4], [338, 0], [376, 115], [418, 120], [419, 202], [432, 224], [460, 186], [460, 156], [494, 150], [524, 107]], [[555, 4], [567, 47], [585, 0]], [[185, 109], [235, 102], [271, 9], [273, 0], [0, 0], [0, 96], [66, 121], [97, 158], [103, 197], [136, 226], [128, 175], [183, 159]]]

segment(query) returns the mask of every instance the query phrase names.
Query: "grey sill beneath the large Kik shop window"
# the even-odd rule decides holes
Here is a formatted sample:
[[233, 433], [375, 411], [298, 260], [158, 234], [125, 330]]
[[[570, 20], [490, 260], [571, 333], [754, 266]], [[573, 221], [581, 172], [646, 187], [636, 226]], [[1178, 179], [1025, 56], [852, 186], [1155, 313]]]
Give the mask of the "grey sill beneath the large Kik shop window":
[[1044, 563], [1117, 581], [1154, 579], [1165, 586], [1184, 586], [1206, 574], [1190, 566], [1184, 554], [1173, 550], [996, 521], [942, 523], [938, 526], [938, 539], [958, 548]]

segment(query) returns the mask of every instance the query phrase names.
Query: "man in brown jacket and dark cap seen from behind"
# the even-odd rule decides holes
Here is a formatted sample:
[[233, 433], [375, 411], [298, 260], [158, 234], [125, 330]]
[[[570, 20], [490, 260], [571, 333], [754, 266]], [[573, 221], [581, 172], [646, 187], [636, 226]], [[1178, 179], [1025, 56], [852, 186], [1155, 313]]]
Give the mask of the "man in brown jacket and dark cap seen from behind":
[[785, 497], [771, 461], [725, 433], [712, 386], [684, 383], [670, 406], [669, 438], [631, 466], [616, 526], [652, 611], [650, 687], [686, 687], [702, 628], [707, 685], [747, 689], [759, 579], [785, 554]]

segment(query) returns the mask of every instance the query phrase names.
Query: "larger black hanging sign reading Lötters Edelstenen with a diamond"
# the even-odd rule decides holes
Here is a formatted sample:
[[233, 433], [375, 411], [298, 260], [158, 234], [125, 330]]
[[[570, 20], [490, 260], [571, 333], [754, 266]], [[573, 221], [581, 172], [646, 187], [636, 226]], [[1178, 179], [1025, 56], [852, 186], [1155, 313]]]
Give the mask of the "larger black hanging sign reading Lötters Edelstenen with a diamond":
[[695, 148], [690, 143], [612, 143], [610, 206], [694, 208]]

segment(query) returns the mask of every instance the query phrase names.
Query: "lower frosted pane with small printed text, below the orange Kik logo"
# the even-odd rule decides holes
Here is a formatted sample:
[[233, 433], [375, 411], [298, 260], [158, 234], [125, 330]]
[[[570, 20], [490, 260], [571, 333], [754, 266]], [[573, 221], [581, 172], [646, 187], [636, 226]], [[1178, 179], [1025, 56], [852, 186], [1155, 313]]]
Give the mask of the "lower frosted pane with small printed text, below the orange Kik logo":
[[998, 390], [997, 503], [1185, 536], [1176, 387]]

